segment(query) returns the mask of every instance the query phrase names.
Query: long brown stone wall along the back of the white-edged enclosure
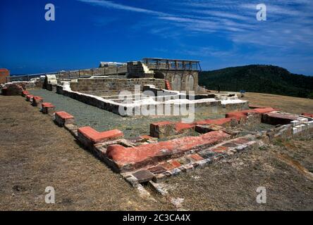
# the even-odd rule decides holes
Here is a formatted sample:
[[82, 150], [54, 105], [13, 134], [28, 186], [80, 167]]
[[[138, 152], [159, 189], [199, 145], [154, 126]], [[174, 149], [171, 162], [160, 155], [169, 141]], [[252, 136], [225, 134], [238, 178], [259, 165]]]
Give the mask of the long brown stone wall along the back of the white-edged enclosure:
[[134, 91], [135, 85], [140, 85], [141, 89], [147, 84], [152, 84], [159, 89], [165, 88], [164, 79], [141, 78], [141, 79], [78, 79], [78, 82], [71, 82], [70, 89], [86, 94], [96, 94], [116, 91]]

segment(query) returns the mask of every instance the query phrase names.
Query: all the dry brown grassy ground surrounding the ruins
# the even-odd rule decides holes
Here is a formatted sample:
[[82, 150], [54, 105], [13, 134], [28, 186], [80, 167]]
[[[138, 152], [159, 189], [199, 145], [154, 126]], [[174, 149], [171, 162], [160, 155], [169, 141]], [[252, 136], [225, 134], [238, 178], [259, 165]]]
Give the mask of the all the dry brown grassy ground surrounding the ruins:
[[[245, 98], [313, 111], [305, 99]], [[0, 96], [0, 143], [0, 210], [175, 210], [171, 198], [182, 198], [183, 210], [313, 210], [313, 139], [276, 141], [168, 179], [168, 197], [153, 194], [156, 202], [141, 198], [20, 96]], [[44, 203], [47, 186], [56, 189], [55, 205]], [[266, 188], [266, 204], [256, 202], [259, 186]]]

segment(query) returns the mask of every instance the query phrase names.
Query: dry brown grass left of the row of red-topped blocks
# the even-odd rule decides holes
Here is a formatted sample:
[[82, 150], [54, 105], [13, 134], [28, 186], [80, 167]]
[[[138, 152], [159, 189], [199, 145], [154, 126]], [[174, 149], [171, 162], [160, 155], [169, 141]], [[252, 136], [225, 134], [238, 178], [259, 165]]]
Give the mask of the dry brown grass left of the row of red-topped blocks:
[[[0, 210], [168, 210], [141, 198], [20, 96], [0, 96]], [[53, 186], [56, 204], [44, 203]]]

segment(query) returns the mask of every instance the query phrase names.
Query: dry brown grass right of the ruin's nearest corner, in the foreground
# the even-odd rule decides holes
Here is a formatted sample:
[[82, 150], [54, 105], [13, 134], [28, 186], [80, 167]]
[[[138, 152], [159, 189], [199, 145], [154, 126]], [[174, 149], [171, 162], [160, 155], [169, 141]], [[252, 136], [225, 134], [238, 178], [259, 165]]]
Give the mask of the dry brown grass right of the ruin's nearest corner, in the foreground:
[[[188, 210], [313, 210], [312, 179], [277, 155], [289, 155], [302, 168], [312, 165], [313, 140], [296, 142], [306, 144], [297, 149], [297, 161], [290, 141], [256, 148], [168, 180], [171, 195], [184, 198]], [[266, 188], [266, 204], [256, 201], [259, 186]]]

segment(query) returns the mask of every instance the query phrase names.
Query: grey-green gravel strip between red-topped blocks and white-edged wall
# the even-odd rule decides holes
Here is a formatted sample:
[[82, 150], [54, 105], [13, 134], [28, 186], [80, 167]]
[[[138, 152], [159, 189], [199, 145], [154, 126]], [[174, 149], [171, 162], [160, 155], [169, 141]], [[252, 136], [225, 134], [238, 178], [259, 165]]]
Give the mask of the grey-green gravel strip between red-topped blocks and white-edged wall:
[[[73, 98], [69, 98], [52, 91], [44, 89], [30, 90], [35, 96], [42, 96], [44, 102], [56, 105], [56, 110], [66, 111], [75, 117], [75, 123], [79, 127], [90, 126], [98, 131], [120, 129], [124, 132], [125, 138], [133, 138], [140, 135], [149, 134], [149, 124], [159, 121], [180, 122], [181, 117], [121, 117], [106, 110], [87, 105]], [[215, 119], [224, 117], [223, 114], [209, 114], [205, 109], [197, 110], [196, 120]]]

